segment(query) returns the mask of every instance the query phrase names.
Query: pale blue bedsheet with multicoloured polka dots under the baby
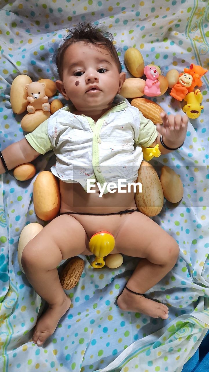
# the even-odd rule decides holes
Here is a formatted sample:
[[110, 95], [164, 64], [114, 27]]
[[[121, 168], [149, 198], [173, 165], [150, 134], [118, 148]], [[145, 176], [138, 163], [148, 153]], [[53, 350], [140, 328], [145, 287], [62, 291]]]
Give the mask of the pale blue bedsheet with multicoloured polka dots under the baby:
[[[1, 150], [23, 138], [10, 106], [10, 88], [19, 74], [33, 81], [56, 80], [53, 54], [66, 28], [74, 23], [102, 23], [114, 35], [127, 77], [124, 53], [138, 48], [145, 64], [162, 73], [179, 72], [190, 63], [209, 67], [209, 7], [204, 0], [1, 0], [0, 2], [0, 144]], [[26, 224], [44, 222], [33, 207], [33, 182], [50, 169], [53, 153], [36, 159], [33, 179], [17, 181], [12, 171], [0, 177], [0, 369], [17, 371], [182, 371], [209, 328], [209, 75], [200, 88], [200, 117], [191, 120], [184, 145], [151, 164], [160, 172], [172, 167], [184, 185], [182, 201], [164, 200], [154, 217], [180, 246], [173, 270], [149, 291], [169, 306], [169, 319], [121, 311], [115, 304], [136, 260], [124, 256], [118, 269], [95, 270], [89, 257], [79, 284], [66, 291], [72, 300], [55, 333], [43, 345], [32, 342], [32, 330], [44, 302], [29, 285], [17, 261], [20, 232]], [[153, 98], [169, 113], [183, 114], [169, 92]], [[157, 238], [157, 237], [156, 237]], [[134, 261], [134, 262], [133, 262]], [[56, 293], [55, 293], [56, 296]]]

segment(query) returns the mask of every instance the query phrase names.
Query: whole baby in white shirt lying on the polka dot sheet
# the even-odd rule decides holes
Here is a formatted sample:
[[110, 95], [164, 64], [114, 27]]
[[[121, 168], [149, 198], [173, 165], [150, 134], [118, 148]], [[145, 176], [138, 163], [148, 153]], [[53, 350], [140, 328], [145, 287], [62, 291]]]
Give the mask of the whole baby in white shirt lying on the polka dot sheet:
[[[99, 231], [114, 236], [112, 253], [141, 257], [118, 296], [118, 307], [168, 318], [167, 306], [145, 294], [172, 269], [179, 246], [137, 210], [134, 191], [128, 192], [127, 185], [137, 179], [143, 160], [141, 145], [155, 147], [158, 143], [162, 154], [176, 150], [184, 142], [188, 122], [185, 115], [167, 116], [164, 112], [163, 124], [156, 126], [119, 94], [125, 73], [121, 72], [112, 35], [97, 26], [80, 23], [69, 31], [56, 64], [61, 79], [56, 86], [71, 101], [72, 110], [64, 107], [55, 112], [21, 141], [5, 148], [0, 161], [1, 174], [49, 150], [56, 155], [51, 171], [59, 179], [61, 213], [22, 254], [27, 279], [49, 305], [34, 329], [32, 340], [38, 346], [55, 331], [71, 305], [57, 267], [69, 257], [90, 255], [89, 240]], [[106, 186], [99, 197], [97, 183], [102, 187], [120, 179], [126, 180], [123, 193], [110, 188], [108, 192]], [[91, 192], [87, 190], [89, 180], [94, 183]]]

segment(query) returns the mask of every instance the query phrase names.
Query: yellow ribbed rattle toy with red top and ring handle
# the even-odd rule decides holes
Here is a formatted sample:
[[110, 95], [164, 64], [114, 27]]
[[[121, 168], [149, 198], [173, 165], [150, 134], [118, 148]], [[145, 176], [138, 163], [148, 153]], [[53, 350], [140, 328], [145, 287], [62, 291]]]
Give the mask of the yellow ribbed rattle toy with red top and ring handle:
[[89, 241], [89, 249], [95, 254], [95, 260], [92, 266], [95, 269], [100, 269], [105, 265], [104, 257], [112, 252], [115, 246], [115, 239], [108, 231], [100, 231], [94, 234]]

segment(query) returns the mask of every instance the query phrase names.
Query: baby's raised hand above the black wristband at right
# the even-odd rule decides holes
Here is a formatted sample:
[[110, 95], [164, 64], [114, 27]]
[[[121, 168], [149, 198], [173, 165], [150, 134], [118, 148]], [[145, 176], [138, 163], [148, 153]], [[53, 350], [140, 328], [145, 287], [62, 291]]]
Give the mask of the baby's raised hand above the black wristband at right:
[[160, 114], [163, 124], [157, 124], [157, 131], [163, 136], [165, 145], [171, 148], [179, 147], [185, 140], [188, 117], [180, 114], [167, 115], [166, 112]]

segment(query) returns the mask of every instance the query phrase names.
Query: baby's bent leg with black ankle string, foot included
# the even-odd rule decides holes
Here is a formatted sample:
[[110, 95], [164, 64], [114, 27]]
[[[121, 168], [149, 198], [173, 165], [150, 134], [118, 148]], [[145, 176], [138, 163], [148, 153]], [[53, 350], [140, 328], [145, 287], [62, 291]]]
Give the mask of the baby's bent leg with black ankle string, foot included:
[[[166, 231], [144, 214], [135, 212], [127, 217], [115, 244], [123, 254], [142, 257], [127, 282], [127, 288], [144, 294], [173, 268], [179, 255], [179, 246]], [[166, 305], [133, 294], [126, 288], [118, 297], [117, 304], [122, 310], [138, 311], [153, 318], [168, 318]]]

